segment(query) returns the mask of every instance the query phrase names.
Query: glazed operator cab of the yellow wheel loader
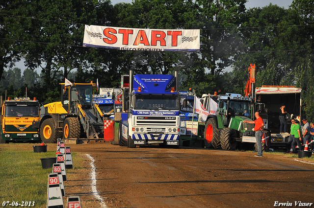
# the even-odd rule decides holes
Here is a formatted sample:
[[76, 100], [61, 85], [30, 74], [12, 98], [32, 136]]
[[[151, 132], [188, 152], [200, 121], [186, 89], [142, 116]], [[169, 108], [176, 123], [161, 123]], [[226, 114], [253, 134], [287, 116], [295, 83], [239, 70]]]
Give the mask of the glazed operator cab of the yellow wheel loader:
[[61, 102], [67, 110], [71, 110], [77, 104], [80, 104], [83, 109], [89, 109], [92, 106], [92, 99], [90, 99], [93, 97], [92, 84], [74, 83], [66, 87], [61, 85], [61, 94]]

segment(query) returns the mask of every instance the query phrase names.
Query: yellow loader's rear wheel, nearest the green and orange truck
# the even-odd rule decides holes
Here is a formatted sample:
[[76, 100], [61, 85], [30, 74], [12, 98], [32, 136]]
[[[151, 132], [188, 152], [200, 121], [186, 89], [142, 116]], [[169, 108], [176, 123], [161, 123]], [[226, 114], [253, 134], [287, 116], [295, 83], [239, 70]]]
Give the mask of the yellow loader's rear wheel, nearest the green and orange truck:
[[48, 118], [43, 121], [40, 126], [40, 137], [45, 143], [56, 143], [59, 132], [55, 128], [53, 118]]

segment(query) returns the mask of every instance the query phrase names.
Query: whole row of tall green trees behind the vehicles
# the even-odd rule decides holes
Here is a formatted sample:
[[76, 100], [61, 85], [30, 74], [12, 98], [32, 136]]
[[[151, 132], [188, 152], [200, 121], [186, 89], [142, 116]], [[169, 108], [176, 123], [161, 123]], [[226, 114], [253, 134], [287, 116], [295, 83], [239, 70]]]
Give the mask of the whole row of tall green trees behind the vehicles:
[[[256, 64], [256, 86], [297, 85], [304, 112], [313, 115], [306, 72], [313, 70], [314, 3], [293, 0], [288, 9], [269, 4], [245, 8], [246, 0], [2, 0], [0, 91], [60, 99], [64, 78], [119, 87], [122, 74], [172, 74], [181, 90], [243, 93], [247, 68]], [[12, 16], [13, 15], [13, 16]], [[120, 51], [81, 47], [84, 24], [134, 28], [200, 28], [200, 52]], [[25, 58], [21, 75], [14, 64]], [[232, 71], [226, 68], [232, 67]], [[7, 71], [3, 71], [7, 68]], [[40, 68], [38, 75], [35, 68]], [[20, 70], [20, 71], [19, 71]], [[3, 74], [2, 74], [3, 72]], [[309, 84], [309, 85], [308, 85]]]

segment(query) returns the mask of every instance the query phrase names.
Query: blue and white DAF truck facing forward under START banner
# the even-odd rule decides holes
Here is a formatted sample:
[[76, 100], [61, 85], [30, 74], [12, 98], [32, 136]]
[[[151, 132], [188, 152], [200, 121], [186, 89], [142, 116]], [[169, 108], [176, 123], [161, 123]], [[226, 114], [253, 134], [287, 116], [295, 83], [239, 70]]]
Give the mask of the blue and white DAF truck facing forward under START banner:
[[119, 123], [119, 145], [179, 147], [180, 96], [176, 80], [173, 75], [130, 72], [127, 113], [121, 115]]

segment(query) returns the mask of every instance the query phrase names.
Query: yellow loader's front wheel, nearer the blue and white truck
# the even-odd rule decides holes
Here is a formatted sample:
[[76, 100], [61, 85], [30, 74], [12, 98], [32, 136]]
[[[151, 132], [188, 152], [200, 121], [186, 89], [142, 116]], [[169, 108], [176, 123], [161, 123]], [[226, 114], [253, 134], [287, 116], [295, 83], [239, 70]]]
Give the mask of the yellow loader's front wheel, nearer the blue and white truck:
[[77, 117], [68, 117], [63, 122], [64, 139], [78, 139], [80, 136], [80, 123]]

